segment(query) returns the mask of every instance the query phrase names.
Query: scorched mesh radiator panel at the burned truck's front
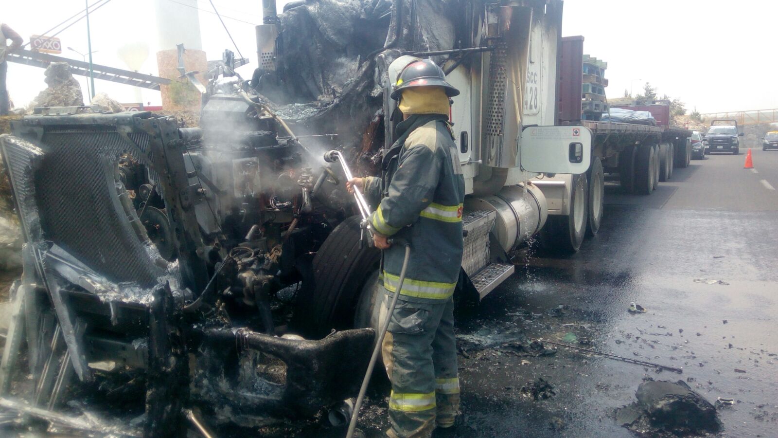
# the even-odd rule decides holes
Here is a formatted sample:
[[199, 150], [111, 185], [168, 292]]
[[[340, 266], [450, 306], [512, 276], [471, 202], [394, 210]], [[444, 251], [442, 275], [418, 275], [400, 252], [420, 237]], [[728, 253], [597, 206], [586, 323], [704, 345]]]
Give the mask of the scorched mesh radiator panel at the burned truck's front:
[[132, 231], [114, 183], [117, 157], [138, 151], [117, 132], [95, 128], [44, 135], [35, 172], [44, 237], [110, 281], [152, 287], [163, 272]]

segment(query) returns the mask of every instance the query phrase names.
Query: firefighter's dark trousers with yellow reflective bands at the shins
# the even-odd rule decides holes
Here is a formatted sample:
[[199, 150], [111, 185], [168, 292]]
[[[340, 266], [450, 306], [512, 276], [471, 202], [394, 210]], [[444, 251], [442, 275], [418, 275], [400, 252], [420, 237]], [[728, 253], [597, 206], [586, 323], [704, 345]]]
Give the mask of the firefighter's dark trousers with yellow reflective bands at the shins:
[[[454, 299], [427, 304], [402, 298], [381, 345], [392, 388], [387, 436], [426, 437], [436, 426], [453, 426], [459, 409]], [[387, 293], [384, 309], [390, 302]]]

